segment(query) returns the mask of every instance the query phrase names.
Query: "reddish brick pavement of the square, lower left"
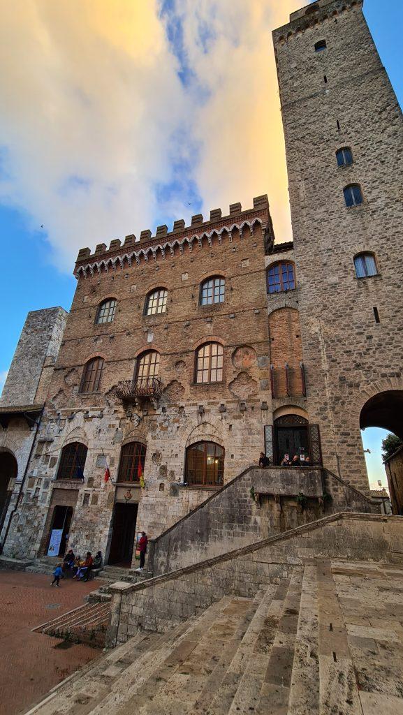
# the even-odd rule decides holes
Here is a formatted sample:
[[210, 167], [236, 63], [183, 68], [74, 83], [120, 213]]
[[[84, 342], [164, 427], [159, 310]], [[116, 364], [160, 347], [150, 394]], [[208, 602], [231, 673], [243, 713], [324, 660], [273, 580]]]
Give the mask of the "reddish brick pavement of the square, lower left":
[[50, 576], [0, 571], [0, 715], [29, 709], [59, 681], [94, 659], [99, 651], [82, 644], [58, 648], [59, 638], [31, 633], [31, 628], [81, 606], [95, 583], [61, 581]]

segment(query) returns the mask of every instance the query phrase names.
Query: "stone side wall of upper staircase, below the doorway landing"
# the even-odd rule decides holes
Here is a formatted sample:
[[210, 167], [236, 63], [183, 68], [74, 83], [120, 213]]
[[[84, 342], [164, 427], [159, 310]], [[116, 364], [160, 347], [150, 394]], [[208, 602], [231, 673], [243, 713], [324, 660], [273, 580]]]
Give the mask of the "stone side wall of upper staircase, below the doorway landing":
[[150, 542], [147, 568], [155, 576], [168, 573], [341, 510], [379, 513], [326, 470], [251, 467]]

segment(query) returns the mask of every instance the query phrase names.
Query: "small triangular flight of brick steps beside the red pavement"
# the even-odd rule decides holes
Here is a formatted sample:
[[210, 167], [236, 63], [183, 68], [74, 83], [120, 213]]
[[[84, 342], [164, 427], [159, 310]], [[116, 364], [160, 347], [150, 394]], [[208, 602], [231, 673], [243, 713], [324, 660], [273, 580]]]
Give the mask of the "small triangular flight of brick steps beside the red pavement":
[[42, 631], [46, 636], [64, 638], [65, 641], [74, 643], [86, 643], [94, 648], [104, 648], [109, 620], [110, 596], [105, 602], [84, 603], [84, 606], [42, 623], [32, 631]]

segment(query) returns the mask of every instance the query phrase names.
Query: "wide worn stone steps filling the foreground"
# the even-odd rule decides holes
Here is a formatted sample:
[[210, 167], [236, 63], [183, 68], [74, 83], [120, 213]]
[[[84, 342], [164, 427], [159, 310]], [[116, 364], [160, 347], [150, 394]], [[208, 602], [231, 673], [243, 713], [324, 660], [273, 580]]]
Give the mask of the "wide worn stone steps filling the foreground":
[[137, 633], [29, 713], [402, 714], [402, 576], [373, 562], [293, 566], [254, 598]]

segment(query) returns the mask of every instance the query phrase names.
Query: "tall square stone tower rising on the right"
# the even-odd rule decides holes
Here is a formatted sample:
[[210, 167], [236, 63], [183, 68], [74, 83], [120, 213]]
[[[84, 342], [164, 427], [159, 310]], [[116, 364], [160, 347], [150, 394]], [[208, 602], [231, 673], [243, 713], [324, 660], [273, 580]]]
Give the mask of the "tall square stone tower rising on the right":
[[309, 420], [366, 490], [360, 425], [403, 437], [403, 124], [362, 4], [319, 0], [273, 41]]

